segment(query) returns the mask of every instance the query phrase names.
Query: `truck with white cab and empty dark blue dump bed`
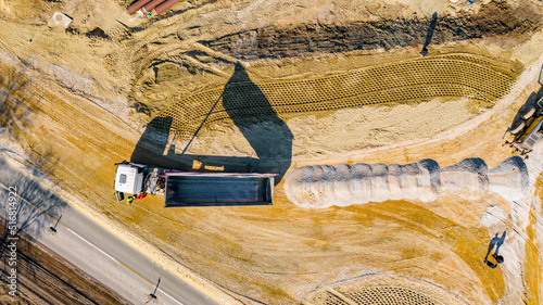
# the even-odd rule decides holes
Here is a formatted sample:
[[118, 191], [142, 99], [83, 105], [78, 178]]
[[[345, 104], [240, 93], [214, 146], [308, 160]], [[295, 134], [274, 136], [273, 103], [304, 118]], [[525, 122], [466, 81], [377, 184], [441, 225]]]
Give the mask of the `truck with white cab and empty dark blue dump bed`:
[[163, 194], [165, 207], [270, 205], [276, 174], [193, 173], [123, 162], [117, 165], [115, 191]]

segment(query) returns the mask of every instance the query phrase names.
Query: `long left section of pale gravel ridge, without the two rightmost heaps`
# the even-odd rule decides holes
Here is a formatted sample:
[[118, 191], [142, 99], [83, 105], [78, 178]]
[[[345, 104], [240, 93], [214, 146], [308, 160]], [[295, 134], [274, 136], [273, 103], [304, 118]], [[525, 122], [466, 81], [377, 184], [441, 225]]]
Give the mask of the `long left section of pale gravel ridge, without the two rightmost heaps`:
[[401, 199], [426, 202], [440, 194], [439, 170], [431, 160], [406, 165], [305, 166], [288, 175], [285, 190], [290, 201], [305, 208]]

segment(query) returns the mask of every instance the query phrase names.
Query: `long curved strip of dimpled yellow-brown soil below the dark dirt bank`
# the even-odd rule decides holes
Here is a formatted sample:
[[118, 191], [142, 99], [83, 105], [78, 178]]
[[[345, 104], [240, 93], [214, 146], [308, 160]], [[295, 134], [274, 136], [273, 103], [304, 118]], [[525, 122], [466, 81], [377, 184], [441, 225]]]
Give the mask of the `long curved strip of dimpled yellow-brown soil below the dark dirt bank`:
[[[231, 82], [185, 97], [162, 111], [159, 117], [173, 118], [172, 126], [163, 126], [165, 132], [172, 128], [179, 138], [187, 139], [204, 120], [211, 124], [226, 118], [330, 111], [437, 97], [493, 102], [508, 93], [513, 80], [503, 64], [491, 59], [446, 54], [303, 80]], [[226, 99], [230, 101], [227, 109], [223, 104]]]

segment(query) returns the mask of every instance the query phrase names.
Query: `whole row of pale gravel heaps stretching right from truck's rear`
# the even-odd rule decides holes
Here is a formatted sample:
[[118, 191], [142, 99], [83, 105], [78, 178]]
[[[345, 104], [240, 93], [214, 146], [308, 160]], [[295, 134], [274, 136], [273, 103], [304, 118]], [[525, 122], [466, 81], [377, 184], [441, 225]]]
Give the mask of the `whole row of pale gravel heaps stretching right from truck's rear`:
[[287, 198], [305, 208], [402, 199], [431, 202], [442, 192], [479, 200], [489, 190], [513, 201], [528, 192], [528, 170], [518, 156], [491, 170], [476, 157], [445, 168], [433, 160], [405, 165], [314, 165], [290, 171], [285, 180]]

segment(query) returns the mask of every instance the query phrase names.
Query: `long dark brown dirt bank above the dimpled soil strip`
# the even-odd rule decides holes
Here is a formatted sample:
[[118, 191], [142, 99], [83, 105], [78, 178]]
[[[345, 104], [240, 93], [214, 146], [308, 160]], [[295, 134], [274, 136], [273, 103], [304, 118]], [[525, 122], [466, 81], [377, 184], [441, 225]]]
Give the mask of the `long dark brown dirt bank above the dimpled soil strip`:
[[[541, 15], [527, 2], [513, 8], [505, 1], [482, 4], [475, 13], [438, 16], [433, 43], [507, 35], [517, 41], [541, 27]], [[201, 41], [215, 51], [243, 60], [278, 59], [340, 53], [353, 50], [389, 50], [425, 43], [432, 17], [379, 18], [344, 24], [307, 23], [293, 28], [269, 26]], [[427, 41], [429, 43], [429, 41]]]

